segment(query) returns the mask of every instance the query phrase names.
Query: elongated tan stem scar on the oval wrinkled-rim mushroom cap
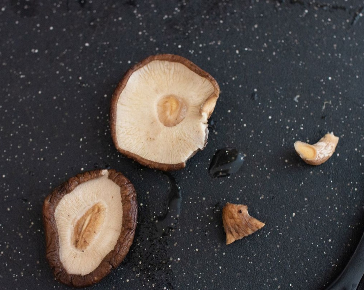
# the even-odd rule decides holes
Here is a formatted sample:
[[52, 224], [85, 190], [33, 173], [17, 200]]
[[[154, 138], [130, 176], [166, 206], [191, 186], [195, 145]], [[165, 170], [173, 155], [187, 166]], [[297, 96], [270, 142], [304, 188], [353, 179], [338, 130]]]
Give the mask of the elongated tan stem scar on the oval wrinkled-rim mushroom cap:
[[76, 222], [72, 235], [72, 244], [80, 251], [92, 243], [104, 223], [106, 207], [98, 202], [83, 214]]

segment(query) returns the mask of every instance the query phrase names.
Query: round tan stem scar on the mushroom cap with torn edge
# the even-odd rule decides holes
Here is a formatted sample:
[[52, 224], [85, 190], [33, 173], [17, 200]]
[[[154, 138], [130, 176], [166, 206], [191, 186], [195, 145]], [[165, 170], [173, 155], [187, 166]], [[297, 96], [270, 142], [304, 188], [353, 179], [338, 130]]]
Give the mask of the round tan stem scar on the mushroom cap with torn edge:
[[173, 127], [185, 119], [187, 105], [177, 96], [168, 95], [158, 101], [157, 112], [163, 125]]

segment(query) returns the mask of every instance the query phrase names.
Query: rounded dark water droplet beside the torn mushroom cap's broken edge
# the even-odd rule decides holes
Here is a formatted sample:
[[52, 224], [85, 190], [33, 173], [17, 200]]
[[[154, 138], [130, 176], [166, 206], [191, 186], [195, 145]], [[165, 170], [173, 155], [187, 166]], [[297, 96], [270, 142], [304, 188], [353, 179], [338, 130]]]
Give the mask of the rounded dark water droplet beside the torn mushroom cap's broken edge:
[[210, 163], [211, 177], [225, 177], [236, 173], [244, 163], [245, 156], [235, 148], [217, 150]]

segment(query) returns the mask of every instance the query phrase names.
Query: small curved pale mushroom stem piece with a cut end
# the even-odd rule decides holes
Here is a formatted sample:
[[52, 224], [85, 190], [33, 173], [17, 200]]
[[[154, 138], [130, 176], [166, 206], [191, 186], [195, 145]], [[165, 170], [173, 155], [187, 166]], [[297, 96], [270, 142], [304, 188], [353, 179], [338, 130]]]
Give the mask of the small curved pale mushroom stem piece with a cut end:
[[294, 149], [304, 162], [310, 165], [320, 165], [332, 156], [338, 142], [339, 137], [331, 132], [313, 145], [297, 141], [294, 143]]

